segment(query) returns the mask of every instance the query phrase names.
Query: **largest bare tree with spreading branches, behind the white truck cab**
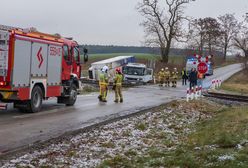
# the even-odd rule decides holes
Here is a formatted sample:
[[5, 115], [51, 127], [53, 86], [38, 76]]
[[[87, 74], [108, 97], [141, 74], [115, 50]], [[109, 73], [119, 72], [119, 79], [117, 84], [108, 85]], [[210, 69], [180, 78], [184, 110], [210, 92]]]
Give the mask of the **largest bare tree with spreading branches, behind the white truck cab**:
[[[182, 22], [185, 4], [194, 0], [143, 0], [138, 10], [145, 17], [141, 24], [146, 43], [160, 48], [162, 61], [168, 63], [173, 40], [183, 39]], [[160, 7], [160, 5], [165, 5]]]

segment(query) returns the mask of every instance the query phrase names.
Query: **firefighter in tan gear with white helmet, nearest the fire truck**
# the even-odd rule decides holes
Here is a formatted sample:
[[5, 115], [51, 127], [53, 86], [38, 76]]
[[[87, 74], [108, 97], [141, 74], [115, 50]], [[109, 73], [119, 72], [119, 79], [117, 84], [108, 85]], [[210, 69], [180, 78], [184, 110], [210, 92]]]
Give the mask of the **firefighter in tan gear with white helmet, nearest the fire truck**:
[[108, 93], [108, 70], [107, 66], [104, 66], [99, 75], [99, 86], [100, 86], [100, 95], [98, 96], [99, 101], [107, 102], [107, 93]]

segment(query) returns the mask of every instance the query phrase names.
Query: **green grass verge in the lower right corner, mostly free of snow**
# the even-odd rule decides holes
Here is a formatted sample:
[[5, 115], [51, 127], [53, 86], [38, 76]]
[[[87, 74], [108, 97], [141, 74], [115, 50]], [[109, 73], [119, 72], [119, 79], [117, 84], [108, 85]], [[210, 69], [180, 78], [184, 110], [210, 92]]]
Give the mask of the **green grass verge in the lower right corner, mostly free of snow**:
[[[173, 103], [171, 106], [183, 106], [185, 112], [198, 110], [212, 117], [192, 123], [189, 134], [178, 131], [177, 144], [156, 130], [154, 135], [160, 135], [153, 136], [156, 145], [151, 145], [144, 153], [131, 157], [116, 155], [104, 160], [99, 167], [247, 167], [248, 106], [221, 108], [203, 102], [193, 102], [190, 107]], [[178, 129], [177, 125], [174, 127]]]

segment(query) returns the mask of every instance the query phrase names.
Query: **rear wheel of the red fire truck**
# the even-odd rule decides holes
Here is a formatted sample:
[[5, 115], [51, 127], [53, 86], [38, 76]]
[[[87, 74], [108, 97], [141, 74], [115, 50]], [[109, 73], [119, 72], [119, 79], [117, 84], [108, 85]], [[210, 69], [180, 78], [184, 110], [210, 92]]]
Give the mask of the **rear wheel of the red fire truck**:
[[39, 86], [35, 86], [31, 93], [31, 100], [28, 101], [27, 111], [36, 113], [41, 110], [43, 94]]

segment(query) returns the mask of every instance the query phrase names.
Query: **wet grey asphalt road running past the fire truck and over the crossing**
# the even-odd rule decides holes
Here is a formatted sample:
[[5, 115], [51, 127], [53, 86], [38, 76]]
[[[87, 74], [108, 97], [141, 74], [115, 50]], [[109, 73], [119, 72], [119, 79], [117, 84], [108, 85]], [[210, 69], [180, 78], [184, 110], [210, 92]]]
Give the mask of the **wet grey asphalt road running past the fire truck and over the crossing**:
[[[209, 87], [212, 79], [225, 80], [241, 70], [240, 64], [230, 65], [214, 71], [204, 80]], [[161, 88], [157, 85], [139, 86], [124, 91], [124, 103], [113, 102], [109, 93], [106, 104], [99, 103], [98, 93], [79, 96], [73, 107], [57, 105], [56, 99], [44, 102], [39, 113], [21, 113], [9, 106], [0, 111], [0, 154], [16, 148], [58, 137], [65, 132], [77, 130], [98, 122], [161, 105], [186, 96], [187, 86]]]

